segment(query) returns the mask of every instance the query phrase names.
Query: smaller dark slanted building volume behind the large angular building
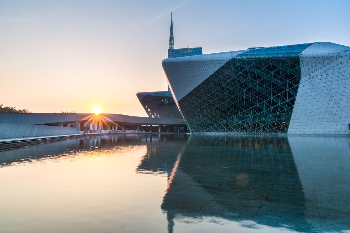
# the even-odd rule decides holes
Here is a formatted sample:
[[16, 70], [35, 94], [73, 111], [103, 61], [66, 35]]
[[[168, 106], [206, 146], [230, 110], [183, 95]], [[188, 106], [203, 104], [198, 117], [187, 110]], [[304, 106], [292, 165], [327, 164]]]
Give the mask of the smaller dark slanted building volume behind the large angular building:
[[182, 118], [170, 91], [136, 94], [148, 117]]

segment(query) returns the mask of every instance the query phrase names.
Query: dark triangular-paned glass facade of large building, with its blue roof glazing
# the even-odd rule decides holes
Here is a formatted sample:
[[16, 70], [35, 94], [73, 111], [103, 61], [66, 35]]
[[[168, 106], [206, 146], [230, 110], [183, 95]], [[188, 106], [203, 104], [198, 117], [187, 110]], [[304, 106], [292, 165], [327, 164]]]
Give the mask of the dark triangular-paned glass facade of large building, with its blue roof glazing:
[[179, 100], [191, 132], [287, 133], [308, 44], [251, 48]]

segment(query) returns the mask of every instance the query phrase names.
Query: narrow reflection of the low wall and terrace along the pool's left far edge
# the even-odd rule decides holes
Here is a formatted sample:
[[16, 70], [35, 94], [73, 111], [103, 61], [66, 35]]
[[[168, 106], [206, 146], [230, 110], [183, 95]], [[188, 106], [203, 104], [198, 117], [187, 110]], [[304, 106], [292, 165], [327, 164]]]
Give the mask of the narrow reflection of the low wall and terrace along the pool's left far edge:
[[[93, 153], [96, 150], [109, 149], [115, 146], [136, 146], [152, 142], [177, 141], [174, 148], [182, 145], [180, 141], [186, 140], [187, 134], [111, 134], [106, 136], [87, 136], [76, 139], [67, 139], [63, 141], [54, 141], [51, 143], [36, 144], [18, 148], [18, 150], [3, 150], [0, 157], [0, 165], [10, 165], [11, 163], [30, 162], [38, 159], [50, 159], [55, 156], [76, 156], [77, 153]], [[180, 141], [179, 141], [180, 140]], [[172, 148], [172, 147], [170, 147]], [[148, 155], [153, 152], [159, 152], [158, 147], [151, 144], [148, 146]]]

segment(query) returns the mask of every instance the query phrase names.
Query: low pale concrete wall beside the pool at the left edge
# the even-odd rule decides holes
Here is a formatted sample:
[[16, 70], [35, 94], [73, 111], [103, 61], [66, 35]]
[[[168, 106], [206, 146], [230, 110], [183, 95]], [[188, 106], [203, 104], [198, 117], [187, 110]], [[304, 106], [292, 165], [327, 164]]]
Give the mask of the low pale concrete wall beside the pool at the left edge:
[[0, 139], [76, 134], [76, 128], [0, 122]]

